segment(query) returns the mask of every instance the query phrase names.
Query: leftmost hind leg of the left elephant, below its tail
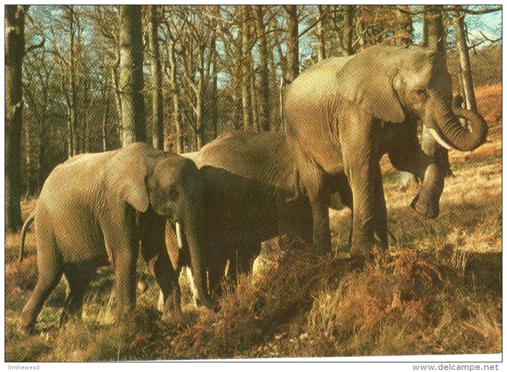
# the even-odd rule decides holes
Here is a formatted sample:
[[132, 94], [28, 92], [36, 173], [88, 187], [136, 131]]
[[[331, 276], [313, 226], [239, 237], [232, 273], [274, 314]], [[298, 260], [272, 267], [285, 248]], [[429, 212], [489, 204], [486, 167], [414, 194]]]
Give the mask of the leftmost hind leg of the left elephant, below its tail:
[[[60, 257], [56, 252], [56, 245], [52, 234], [45, 233], [43, 227], [38, 226], [38, 234], [42, 235], [37, 238], [37, 270], [38, 278], [28, 303], [23, 307], [21, 316], [17, 323], [17, 329], [21, 333], [30, 333], [34, 330], [37, 316], [42, 310], [42, 306], [49, 294], [55, 289], [62, 278], [62, 264]], [[47, 235], [47, 236], [44, 236]], [[50, 242], [53, 246], [51, 249], [41, 246], [40, 242]]]

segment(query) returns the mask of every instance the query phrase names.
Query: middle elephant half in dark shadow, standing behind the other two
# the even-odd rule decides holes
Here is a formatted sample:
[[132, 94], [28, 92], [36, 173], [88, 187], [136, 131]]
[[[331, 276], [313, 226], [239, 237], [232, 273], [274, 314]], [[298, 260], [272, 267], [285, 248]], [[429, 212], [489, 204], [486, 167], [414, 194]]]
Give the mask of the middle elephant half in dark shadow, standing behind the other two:
[[[294, 152], [284, 132], [234, 131], [182, 155], [195, 162], [202, 182], [202, 233], [212, 298], [221, 297], [226, 271], [233, 286], [238, 274], [251, 273], [262, 242], [282, 235], [312, 242], [311, 206], [295, 190]], [[325, 183], [335, 187], [329, 207], [352, 206], [344, 173]], [[176, 243], [175, 230], [169, 226], [166, 243], [173, 267], [180, 272], [190, 262], [185, 240], [178, 238]]]

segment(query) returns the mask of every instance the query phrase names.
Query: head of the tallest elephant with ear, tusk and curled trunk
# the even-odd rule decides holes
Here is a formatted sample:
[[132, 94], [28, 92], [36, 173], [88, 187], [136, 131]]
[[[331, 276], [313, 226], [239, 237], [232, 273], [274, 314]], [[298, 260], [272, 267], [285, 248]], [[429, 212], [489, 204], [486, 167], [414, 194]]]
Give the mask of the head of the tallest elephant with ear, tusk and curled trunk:
[[[452, 107], [450, 76], [439, 52], [418, 46], [372, 46], [345, 64], [338, 81], [343, 97], [360, 102], [378, 119], [401, 123], [416, 115], [447, 149], [471, 151], [486, 141], [484, 119]], [[469, 129], [459, 117], [467, 120]]]

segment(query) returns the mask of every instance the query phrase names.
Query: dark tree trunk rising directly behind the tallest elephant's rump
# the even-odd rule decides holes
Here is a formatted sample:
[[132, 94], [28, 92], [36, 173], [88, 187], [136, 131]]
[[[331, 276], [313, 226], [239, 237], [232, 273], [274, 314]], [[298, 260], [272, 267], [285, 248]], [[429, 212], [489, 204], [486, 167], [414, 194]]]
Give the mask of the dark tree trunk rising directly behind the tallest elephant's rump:
[[287, 29], [285, 37], [287, 41], [287, 75], [285, 80], [292, 83], [299, 75], [299, 31], [297, 22], [297, 6], [284, 5]]

